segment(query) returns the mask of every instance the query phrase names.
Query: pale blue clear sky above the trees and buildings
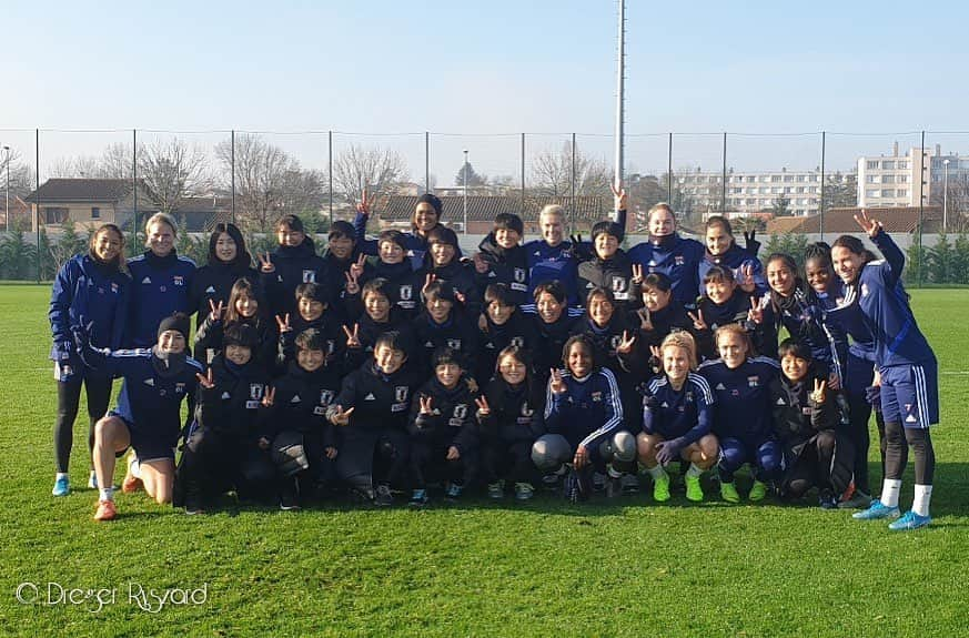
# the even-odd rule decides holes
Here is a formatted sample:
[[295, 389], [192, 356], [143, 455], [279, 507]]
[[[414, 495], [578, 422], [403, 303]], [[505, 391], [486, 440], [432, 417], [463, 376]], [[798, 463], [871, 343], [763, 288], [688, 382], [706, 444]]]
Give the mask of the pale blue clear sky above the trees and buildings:
[[[969, 130], [967, 9], [936, 2], [647, 2], [627, 8], [628, 133], [898, 133]], [[608, 135], [616, 4], [516, 2], [10, 2], [0, 4], [8, 99], [0, 129], [259, 130], [374, 134], [448, 183], [461, 151], [517, 174], [519, 141], [484, 133]], [[12, 98], [12, 99], [11, 99]], [[0, 131], [24, 145], [32, 135]], [[963, 139], [965, 138], [965, 139]], [[47, 158], [98, 154], [114, 135], [43, 134]], [[199, 134], [213, 145], [221, 134]], [[918, 138], [834, 136], [834, 164]], [[307, 165], [325, 139], [279, 136]], [[969, 136], [936, 135], [953, 151]], [[349, 141], [349, 139], [345, 139]], [[342, 141], [341, 141], [342, 143]], [[583, 136], [609, 156], [607, 138]], [[630, 139], [634, 169], [662, 169], [665, 139]], [[960, 145], [962, 148], [960, 148]], [[815, 138], [746, 138], [739, 169], [817, 163]], [[688, 138], [676, 163], [716, 169], [720, 140]], [[477, 162], [475, 160], [478, 160]], [[42, 164], [44, 162], [42, 161]], [[453, 166], [452, 166], [453, 164]], [[758, 164], [755, 166], [754, 164]]]

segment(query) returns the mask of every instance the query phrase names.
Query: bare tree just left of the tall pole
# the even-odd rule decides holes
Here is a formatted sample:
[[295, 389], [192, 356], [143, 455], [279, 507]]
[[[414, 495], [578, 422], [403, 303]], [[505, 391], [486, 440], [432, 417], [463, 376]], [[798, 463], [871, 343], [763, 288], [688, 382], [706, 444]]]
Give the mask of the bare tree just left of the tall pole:
[[576, 195], [612, 196], [612, 174], [608, 166], [576, 150], [573, 170], [572, 144], [568, 142], [562, 145], [558, 153], [545, 151], [532, 160], [532, 192], [558, 198], [571, 195], [573, 175]]

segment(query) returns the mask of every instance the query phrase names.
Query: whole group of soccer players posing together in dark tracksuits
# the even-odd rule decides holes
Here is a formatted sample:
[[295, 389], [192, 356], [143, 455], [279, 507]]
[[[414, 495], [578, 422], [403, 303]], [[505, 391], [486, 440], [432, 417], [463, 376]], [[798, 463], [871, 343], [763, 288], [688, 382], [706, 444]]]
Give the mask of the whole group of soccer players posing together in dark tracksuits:
[[[114, 463], [130, 447], [121, 489], [190, 514], [229, 490], [286, 510], [335, 490], [384, 506], [402, 492], [423, 507], [475, 488], [577, 502], [636, 492], [640, 475], [662, 503], [673, 470], [692, 502], [711, 473], [728, 503], [814, 490], [821, 507], [897, 519], [892, 529], [930, 523], [937, 366], [901, 285], [904, 256], [876, 220], [858, 223], [884, 260], [845, 235], [798, 255], [801, 273], [793, 255], [761, 264], [753, 234], [740, 247], [723, 217], [706, 222], [706, 245], [680, 236], [666, 204], [628, 252], [622, 225], [566, 239], [562, 207], [546, 206], [541, 239], [524, 242], [523, 221], [502, 213], [472, 255], [432, 194], [407, 233], [367, 239], [369, 207], [364, 195], [354, 224], [332, 225], [323, 255], [286, 215], [279, 247], [254, 263], [220, 224], [198, 270], [174, 254], [166, 215], [149, 220], [148, 250], [127, 267], [121, 232], [99, 229], [51, 300], [53, 494], [70, 493], [83, 382], [99, 520], [117, 516]], [[900, 516], [909, 447], [915, 499]]]

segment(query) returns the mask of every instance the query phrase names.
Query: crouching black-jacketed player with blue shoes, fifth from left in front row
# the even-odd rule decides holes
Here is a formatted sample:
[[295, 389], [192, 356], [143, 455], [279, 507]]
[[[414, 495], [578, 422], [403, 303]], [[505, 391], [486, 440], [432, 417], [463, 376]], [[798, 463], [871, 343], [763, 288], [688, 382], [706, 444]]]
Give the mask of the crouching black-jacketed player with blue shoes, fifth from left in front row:
[[427, 504], [427, 477], [447, 480], [448, 499], [461, 496], [477, 470], [477, 433], [471, 382], [450, 347], [431, 358], [434, 377], [421, 386], [411, 405], [411, 505]]

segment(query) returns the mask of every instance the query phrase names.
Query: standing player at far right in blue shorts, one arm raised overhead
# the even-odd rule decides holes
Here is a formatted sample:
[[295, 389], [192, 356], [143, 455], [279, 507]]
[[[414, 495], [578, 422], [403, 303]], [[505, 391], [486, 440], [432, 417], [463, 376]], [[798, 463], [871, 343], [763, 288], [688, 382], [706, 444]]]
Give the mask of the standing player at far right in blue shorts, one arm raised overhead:
[[885, 261], [866, 263], [865, 246], [850, 235], [835, 241], [831, 261], [846, 284], [841, 305], [856, 306], [875, 336], [887, 445], [881, 497], [868, 509], [855, 514], [855, 518], [898, 517], [901, 475], [911, 447], [916, 459], [915, 502], [889, 529], [918, 529], [932, 520], [929, 502], [936, 453], [929, 426], [939, 422], [938, 364], [901, 287], [905, 255], [878, 220], [865, 212], [855, 219], [885, 255]]

